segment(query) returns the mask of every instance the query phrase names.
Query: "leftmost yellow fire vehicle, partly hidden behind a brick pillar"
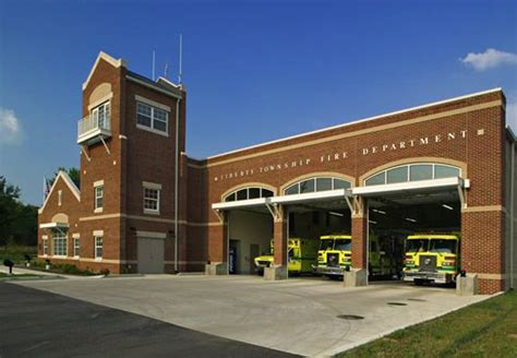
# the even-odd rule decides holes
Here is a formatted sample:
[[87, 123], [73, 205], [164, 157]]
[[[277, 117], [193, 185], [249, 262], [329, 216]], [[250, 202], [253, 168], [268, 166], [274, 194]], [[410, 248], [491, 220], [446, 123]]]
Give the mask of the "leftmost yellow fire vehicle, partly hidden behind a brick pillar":
[[[255, 258], [255, 271], [263, 274], [265, 267], [273, 264], [274, 244], [270, 241], [270, 254]], [[290, 274], [311, 273], [312, 265], [316, 262], [316, 253], [320, 242], [317, 240], [308, 240], [291, 238], [288, 241], [288, 265]]]

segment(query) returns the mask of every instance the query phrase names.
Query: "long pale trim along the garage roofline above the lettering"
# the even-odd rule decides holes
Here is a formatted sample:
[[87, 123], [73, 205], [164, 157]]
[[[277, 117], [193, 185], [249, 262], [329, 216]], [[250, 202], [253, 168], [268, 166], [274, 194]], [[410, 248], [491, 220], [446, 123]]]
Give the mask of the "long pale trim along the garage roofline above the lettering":
[[410, 108], [400, 109], [400, 110], [396, 110], [396, 111], [384, 114], [384, 115], [378, 115], [378, 116], [368, 117], [368, 118], [364, 118], [364, 119], [354, 120], [354, 121], [347, 122], [347, 123], [326, 127], [326, 128], [323, 128], [323, 129], [320, 129], [320, 130], [305, 132], [305, 133], [302, 133], [302, 134], [286, 136], [286, 138], [282, 138], [282, 139], [279, 139], [279, 140], [274, 140], [274, 141], [269, 141], [269, 142], [265, 142], [265, 143], [261, 143], [261, 144], [255, 144], [255, 145], [247, 146], [247, 147], [243, 147], [243, 148], [238, 148], [238, 150], [235, 150], [235, 151], [229, 151], [229, 152], [225, 152], [225, 153], [221, 153], [221, 154], [212, 155], [212, 156], [206, 157], [205, 159], [196, 159], [196, 160], [202, 162], [202, 160], [207, 160], [207, 159], [215, 159], [215, 158], [218, 158], [218, 157], [221, 157], [221, 156], [225, 156], [225, 155], [230, 155], [230, 154], [235, 154], [235, 153], [239, 153], [239, 152], [244, 152], [244, 151], [248, 151], [248, 150], [253, 150], [253, 148], [256, 148], [256, 147], [266, 146], [266, 145], [269, 145], [269, 144], [275, 144], [275, 143], [278, 143], [278, 142], [282, 142], [282, 141], [289, 141], [289, 140], [293, 140], [293, 139], [297, 139], [297, 138], [302, 138], [302, 136], [305, 136], [305, 135], [311, 135], [311, 134], [316, 134], [316, 133], [321, 133], [321, 132], [325, 132], [325, 131], [330, 131], [330, 130], [335, 130], [335, 129], [338, 129], [338, 128], [346, 128], [346, 127], [349, 127], [349, 126], [353, 126], [353, 124], [358, 124], [358, 123], [361, 123], [361, 122], [366, 122], [366, 121], [371, 121], [371, 120], [375, 120], [375, 119], [380, 119], [380, 118], [384, 118], [384, 117], [401, 115], [401, 114], [413, 111], [413, 110], [419, 110], [419, 109], [423, 109], [423, 108], [428, 108], [428, 107], [432, 107], [432, 106], [443, 105], [443, 104], [447, 104], [447, 103], [450, 103], [450, 102], [456, 102], [456, 100], [460, 100], [460, 99], [465, 99], [465, 98], [471, 98], [471, 97], [481, 96], [481, 95], [493, 93], [493, 92], [502, 92], [502, 91], [503, 91], [503, 88], [496, 87], [496, 88], [492, 88], [492, 90], [488, 90], [488, 91], [482, 91], [482, 92], [468, 94], [468, 95], [465, 95], [465, 96], [459, 96], [459, 97], [454, 97], [454, 98], [449, 98], [449, 99], [433, 102], [433, 103], [417, 106], [417, 107], [410, 107]]

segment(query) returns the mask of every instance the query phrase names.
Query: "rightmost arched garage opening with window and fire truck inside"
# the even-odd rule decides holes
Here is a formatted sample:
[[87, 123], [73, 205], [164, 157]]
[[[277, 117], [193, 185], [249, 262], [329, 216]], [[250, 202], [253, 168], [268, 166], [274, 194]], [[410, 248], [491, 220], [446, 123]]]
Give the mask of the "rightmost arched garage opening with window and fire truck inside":
[[370, 278], [454, 282], [460, 268], [465, 171], [448, 163], [414, 162], [363, 177], [353, 194], [368, 207]]

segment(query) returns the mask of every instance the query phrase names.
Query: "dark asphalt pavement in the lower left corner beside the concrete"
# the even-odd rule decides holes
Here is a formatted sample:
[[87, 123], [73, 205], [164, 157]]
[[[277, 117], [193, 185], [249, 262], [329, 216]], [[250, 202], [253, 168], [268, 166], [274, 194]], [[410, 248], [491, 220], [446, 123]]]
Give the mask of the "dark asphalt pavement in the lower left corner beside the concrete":
[[0, 282], [0, 357], [291, 357]]

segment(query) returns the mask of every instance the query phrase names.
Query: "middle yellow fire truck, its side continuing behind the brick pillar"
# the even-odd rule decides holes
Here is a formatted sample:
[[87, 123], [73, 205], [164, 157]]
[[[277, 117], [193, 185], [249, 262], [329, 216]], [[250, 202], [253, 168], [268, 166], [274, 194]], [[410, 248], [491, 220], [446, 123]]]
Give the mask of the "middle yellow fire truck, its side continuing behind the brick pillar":
[[[396, 258], [389, 237], [369, 236], [369, 275], [392, 276], [398, 274]], [[317, 264], [313, 265], [316, 275], [342, 276], [351, 265], [352, 237], [350, 235], [326, 235], [320, 237]]]

